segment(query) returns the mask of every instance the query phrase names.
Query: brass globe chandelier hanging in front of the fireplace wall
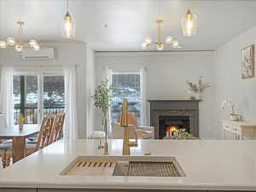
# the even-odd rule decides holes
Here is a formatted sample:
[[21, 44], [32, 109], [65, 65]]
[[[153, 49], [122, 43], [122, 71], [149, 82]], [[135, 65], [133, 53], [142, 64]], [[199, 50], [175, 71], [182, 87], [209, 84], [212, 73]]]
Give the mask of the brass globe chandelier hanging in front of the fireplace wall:
[[156, 20], [156, 24], [158, 25], [157, 28], [157, 41], [153, 41], [151, 38], [145, 38], [145, 40], [142, 43], [142, 49], [147, 49], [149, 46], [156, 45], [156, 49], [163, 50], [164, 45], [170, 45], [172, 48], [181, 48], [179, 45], [179, 42], [174, 39], [171, 35], [167, 35], [165, 38], [165, 41], [161, 41], [161, 23], [163, 20]]

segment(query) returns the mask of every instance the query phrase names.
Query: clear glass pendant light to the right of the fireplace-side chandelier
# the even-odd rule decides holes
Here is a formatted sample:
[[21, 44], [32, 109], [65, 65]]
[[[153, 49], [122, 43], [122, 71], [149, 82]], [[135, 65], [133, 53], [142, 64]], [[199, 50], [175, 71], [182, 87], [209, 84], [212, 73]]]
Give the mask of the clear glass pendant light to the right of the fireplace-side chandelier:
[[183, 16], [181, 20], [181, 25], [183, 28], [183, 36], [190, 37], [196, 34], [197, 32], [197, 15], [192, 14], [189, 9], [187, 13]]

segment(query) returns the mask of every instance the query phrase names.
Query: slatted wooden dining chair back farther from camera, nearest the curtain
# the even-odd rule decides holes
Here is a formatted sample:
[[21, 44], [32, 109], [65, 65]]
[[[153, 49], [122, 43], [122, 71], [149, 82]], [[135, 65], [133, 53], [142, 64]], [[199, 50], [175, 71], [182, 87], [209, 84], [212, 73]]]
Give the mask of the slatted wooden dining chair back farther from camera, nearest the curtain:
[[53, 124], [53, 129], [50, 133], [49, 143], [55, 143], [55, 141], [57, 141], [61, 138], [62, 132], [63, 132], [64, 120], [65, 120], [64, 112], [56, 112], [55, 113], [55, 120], [54, 120], [54, 124]]

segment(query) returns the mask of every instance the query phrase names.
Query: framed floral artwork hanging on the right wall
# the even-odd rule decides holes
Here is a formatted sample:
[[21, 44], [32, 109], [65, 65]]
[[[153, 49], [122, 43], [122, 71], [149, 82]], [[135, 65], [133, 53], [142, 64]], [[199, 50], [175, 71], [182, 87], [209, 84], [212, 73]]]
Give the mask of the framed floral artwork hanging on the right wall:
[[254, 44], [241, 49], [241, 78], [254, 77]]

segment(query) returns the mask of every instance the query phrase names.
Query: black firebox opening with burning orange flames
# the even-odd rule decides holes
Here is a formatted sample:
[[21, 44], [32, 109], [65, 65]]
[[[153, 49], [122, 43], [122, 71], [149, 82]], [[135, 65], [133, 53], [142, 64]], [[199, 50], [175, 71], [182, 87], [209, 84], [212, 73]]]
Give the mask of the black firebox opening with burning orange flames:
[[189, 130], [189, 116], [160, 116], [159, 117], [159, 138], [170, 137], [174, 131], [183, 129]]

